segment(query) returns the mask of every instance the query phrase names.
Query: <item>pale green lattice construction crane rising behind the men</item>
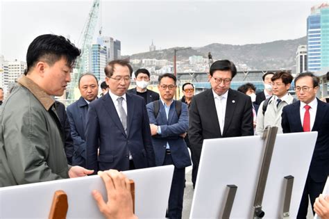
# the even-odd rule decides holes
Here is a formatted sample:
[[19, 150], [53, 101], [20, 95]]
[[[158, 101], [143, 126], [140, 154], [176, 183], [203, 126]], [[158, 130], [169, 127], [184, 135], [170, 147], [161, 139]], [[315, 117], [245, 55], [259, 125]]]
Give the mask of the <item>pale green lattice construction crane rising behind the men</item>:
[[89, 65], [90, 44], [92, 43], [97, 19], [99, 17], [99, 5], [100, 0], [94, 0], [94, 3], [92, 3], [92, 8], [90, 9], [90, 13], [87, 17], [87, 21], [83, 26], [83, 31], [81, 32], [80, 38], [78, 40], [78, 46], [81, 48], [81, 56], [76, 59], [75, 67], [73, 73], [71, 74], [69, 95], [67, 96], [68, 102], [73, 102], [76, 99], [74, 97], [74, 93], [76, 88], [78, 88], [78, 79], [81, 74], [86, 72], [86, 65]]

